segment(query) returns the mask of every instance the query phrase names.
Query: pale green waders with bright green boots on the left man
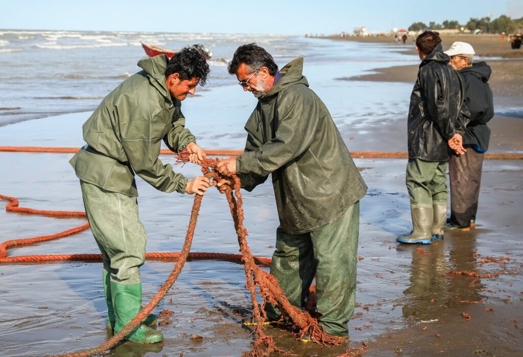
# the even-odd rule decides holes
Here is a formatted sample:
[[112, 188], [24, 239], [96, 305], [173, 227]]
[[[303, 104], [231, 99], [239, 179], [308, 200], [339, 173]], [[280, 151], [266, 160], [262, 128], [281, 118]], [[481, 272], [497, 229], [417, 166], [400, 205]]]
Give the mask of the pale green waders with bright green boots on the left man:
[[[80, 181], [80, 186], [90, 229], [104, 262], [107, 325], [116, 333], [141, 310], [140, 267], [145, 261], [147, 237], [138, 219], [136, 197], [106, 191], [84, 181]], [[147, 316], [125, 339], [137, 343], [162, 341], [161, 332], [147, 327], [155, 322], [154, 315]]]

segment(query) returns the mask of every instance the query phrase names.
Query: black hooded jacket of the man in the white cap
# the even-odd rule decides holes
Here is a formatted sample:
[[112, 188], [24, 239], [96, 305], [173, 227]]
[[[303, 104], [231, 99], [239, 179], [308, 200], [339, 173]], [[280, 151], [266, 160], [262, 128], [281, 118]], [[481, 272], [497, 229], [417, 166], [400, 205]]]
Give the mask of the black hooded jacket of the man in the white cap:
[[465, 129], [463, 145], [472, 145], [474, 150], [485, 152], [490, 139], [490, 128], [486, 123], [494, 116], [492, 90], [488, 85], [492, 70], [485, 62], [477, 62], [461, 68], [458, 73], [465, 86], [464, 103], [470, 111], [470, 122]]

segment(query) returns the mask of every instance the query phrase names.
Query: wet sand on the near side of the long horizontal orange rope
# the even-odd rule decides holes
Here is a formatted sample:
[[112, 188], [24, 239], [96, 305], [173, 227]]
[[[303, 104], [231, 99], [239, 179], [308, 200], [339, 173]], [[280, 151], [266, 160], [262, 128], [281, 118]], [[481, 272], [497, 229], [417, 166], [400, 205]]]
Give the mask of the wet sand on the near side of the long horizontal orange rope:
[[[0, 153], [4, 167], [18, 177], [2, 190], [20, 198], [21, 206], [39, 209], [81, 208], [77, 182], [69, 176], [67, 154]], [[167, 158], [167, 161], [169, 159]], [[33, 162], [20, 168], [20, 162]], [[484, 350], [493, 355], [520, 355], [523, 281], [521, 279], [520, 207], [523, 168], [519, 161], [488, 160], [484, 165], [478, 225], [472, 232], [446, 233], [431, 246], [404, 246], [395, 237], [410, 230], [404, 160], [356, 159], [370, 189], [361, 201], [357, 307], [349, 323], [349, 346], [368, 341], [371, 356], [465, 355]], [[49, 174], [49, 167], [53, 174]], [[186, 167], [187, 175], [196, 174]], [[45, 175], [34, 182], [28, 173]], [[149, 235], [148, 252], [179, 251], [192, 198], [167, 197], [140, 185], [141, 219]], [[249, 245], [255, 255], [274, 250], [277, 216], [271, 187], [264, 184], [244, 193]], [[175, 204], [172, 203], [175, 200]], [[158, 202], [162, 207], [158, 208]], [[5, 239], [50, 234], [82, 224], [78, 219], [18, 215], [3, 210]], [[423, 251], [418, 251], [422, 248]], [[237, 242], [223, 196], [213, 190], [204, 197], [192, 251], [236, 253]], [[97, 253], [89, 231], [9, 255]], [[425, 253], [426, 252], [426, 253]], [[506, 264], [481, 263], [487, 256], [510, 257]], [[142, 268], [144, 301], [163, 283], [174, 262], [147, 261]], [[448, 275], [450, 270], [500, 273], [475, 281]], [[0, 345], [5, 356], [45, 354], [97, 346], [105, 341], [105, 302], [99, 277], [101, 264], [89, 262], [14, 264], [0, 267], [3, 308]], [[241, 325], [249, 316], [240, 265], [225, 261], [189, 261], [173, 289], [155, 310], [174, 314], [160, 325], [165, 341], [141, 347], [126, 342], [110, 356], [238, 356], [251, 348], [252, 330]], [[470, 304], [464, 301], [477, 302]], [[493, 311], [485, 311], [492, 308]], [[467, 313], [471, 320], [461, 315]], [[516, 321], [517, 320], [517, 321]], [[164, 320], [160, 320], [161, 322]], [[295, 341], [280, 328], [268, 329], [278, 346], [300, 356], [335, 356], [344, 347], [324, 348]], [[201, 340], [191, 340], [197, 334]], [[437, 337], [436, 335], [439, 335]]]

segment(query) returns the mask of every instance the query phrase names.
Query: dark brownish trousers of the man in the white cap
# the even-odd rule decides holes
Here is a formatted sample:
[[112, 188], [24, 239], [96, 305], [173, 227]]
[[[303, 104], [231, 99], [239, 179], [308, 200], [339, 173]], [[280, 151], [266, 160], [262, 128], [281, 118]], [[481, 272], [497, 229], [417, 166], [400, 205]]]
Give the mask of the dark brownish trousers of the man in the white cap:
[[467, 147], [463, 155], [450, 157], [450, 222], [457, 227], [469, 227], [476, 219], [484, 156]]

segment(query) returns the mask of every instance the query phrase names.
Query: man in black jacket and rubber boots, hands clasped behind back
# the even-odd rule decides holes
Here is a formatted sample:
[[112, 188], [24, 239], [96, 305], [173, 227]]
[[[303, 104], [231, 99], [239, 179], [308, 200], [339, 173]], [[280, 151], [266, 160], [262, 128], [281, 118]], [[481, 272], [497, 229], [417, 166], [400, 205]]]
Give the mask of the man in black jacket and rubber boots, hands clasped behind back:
[[425, 31], [416, 39], [422, 63], [408, 110], [408, 163], [406, 184], [411, 201], [412, 232], [397, 237], [399, 243], [430, 244], [443, 239], [447, 218], [449, 147], [464, 153], [463, 84], [447, 64], [438, 32]]

